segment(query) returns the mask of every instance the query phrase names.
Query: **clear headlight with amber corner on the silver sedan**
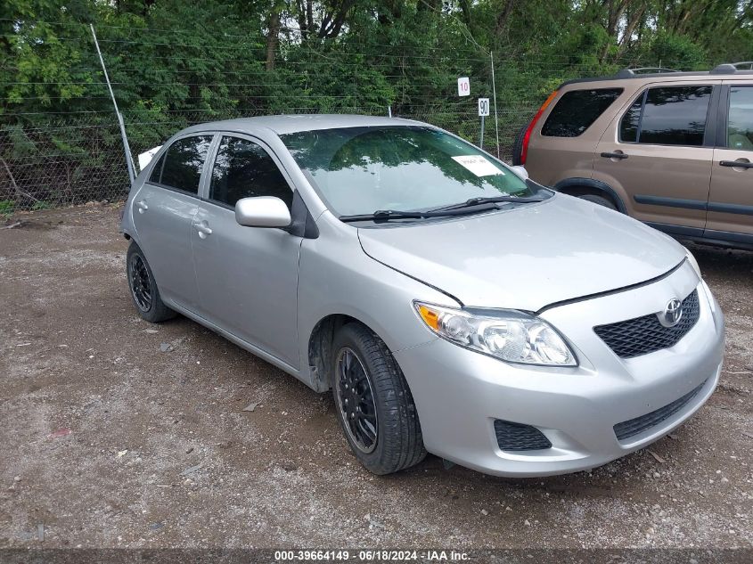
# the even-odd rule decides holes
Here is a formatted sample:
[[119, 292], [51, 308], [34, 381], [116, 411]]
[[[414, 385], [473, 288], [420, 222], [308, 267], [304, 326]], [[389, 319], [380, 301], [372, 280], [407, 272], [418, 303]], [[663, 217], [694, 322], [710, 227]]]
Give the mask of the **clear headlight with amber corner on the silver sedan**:
[[413, 302], [413, 306], [431, 331], [461, 347], [510, 363], [577, 365], [575, 355], [557, 331], [537, 317], [517, 311], [473, 315], [421, 302]]

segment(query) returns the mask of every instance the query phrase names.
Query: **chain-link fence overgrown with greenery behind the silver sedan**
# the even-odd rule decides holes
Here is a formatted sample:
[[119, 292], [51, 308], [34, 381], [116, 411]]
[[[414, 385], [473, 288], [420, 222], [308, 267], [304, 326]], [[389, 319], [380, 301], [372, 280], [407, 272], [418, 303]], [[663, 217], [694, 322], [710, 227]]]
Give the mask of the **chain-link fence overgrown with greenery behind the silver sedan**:
[[[236, 59], [209, 60], [207, 55], [192, 54], [184, 44], [160, 44], [168, 55], [152, 57], [147, 69], [129, 66], [128, 49], [153, 45], [146, 43], [145, 35], [101, 41], [134, 156], [192, 124], [274, 113], [387, 115], [391, 110], [393, 116], [425, 121], [478, 144], [477, 99], [489, 97], [492, 106], [484, 148], [509, 161], [515, 136], [552, 88], [564, 78], [593, 74], [593, 68], [565, 57], [561, 64], [501, 59], [495, 61], [493, 88], [491, 53], [475, 48], [469, 52], [466, 46], [453, 57], [447, 57], [445, 49], [434, 60], [431, 53], [411, 54], [410, 46], [358, 44], [348, 53], [337, 53], [337, 60], [313, 50], [301, 54], [300, 45], [294, 57], [281, 46], [274, 69], [253, 52], [258, 60], [244, 61], [251, 70], [244, 70], [240, 77], [231, 69]], [[127, 195], [118, 120], [102, 71], [96, 67], [94, 44], [85, 35], [68, 39], [78, 42], [74, 45], [80, 53], [91, 55], [89, 67], [81, 69], [79, 61], [77, 72], [86, 70], [95, 78], [39, 83], [36, 90], [22, 85], [28, 91], [25, 97], [12, 91], [11, 99], [3, 102], [0, 214], [89, 200], [122, 200]], [[167, 67], [175, 65], [176, 59], [180, 69], [208, 64], [219, 69], [210, 82], [195, 82], [195, 70], [169, 69], [172, 74], [168, 75]], [[163, 75], [169, 78], [160, 78]], [[467, 97], [457, 96], [456, 78], [462, 76], [471, 78]], [[10, 83], [10, 87], [21, 87], [14, 84], [20, 83]], [[80, 90], [70, 94], [72, 88]], [[65, 96], [54, 95], [61, 93]], [[155, 102], [158, 98], [159, 103]], [[38, 102], [33, 111], [25, 110], [29, 100]]]

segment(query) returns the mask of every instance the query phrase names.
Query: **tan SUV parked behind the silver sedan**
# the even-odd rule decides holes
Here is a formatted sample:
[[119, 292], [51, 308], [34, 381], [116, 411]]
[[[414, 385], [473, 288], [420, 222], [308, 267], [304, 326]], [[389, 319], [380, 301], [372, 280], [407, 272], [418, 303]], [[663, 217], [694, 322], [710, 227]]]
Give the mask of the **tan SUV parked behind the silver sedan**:
[[513, 164], [675, 237], [753, 249], [753, 70], [743, 66], [753, 67], [566, 82], [520, 132]]

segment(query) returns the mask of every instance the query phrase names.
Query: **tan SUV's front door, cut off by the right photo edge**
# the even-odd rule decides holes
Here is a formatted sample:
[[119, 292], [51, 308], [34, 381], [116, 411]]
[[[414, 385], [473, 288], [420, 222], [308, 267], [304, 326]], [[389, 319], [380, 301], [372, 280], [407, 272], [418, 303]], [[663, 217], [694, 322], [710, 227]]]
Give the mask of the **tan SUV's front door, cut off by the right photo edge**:
[[724, 84], [717, 132], [705, 236], [753, 244], [753, 83]]

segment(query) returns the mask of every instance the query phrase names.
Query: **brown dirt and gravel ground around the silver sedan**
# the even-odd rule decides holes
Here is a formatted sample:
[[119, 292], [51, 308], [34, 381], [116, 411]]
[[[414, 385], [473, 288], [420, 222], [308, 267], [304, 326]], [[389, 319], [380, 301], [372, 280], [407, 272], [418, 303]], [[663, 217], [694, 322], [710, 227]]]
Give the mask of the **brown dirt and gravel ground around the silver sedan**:
[[651, 452], [536, 480], [435, 457], [377, 478], [331, 396], [187, 319], [141, 321], [116, 208], [20, 219], [0, 230], [0, 546], [753, 546], [753, 253], [693, 249], [724, 373]]

